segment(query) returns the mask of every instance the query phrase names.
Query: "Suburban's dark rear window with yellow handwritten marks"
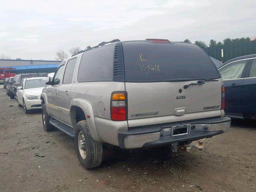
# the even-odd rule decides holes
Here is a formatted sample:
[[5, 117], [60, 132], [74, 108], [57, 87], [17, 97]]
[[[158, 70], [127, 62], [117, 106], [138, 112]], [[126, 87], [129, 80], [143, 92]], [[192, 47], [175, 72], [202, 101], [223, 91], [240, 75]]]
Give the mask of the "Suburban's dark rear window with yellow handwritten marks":
[[220, 78], [208, 55], [186, 43], [124, 42], [126, 82], [164, 82]]

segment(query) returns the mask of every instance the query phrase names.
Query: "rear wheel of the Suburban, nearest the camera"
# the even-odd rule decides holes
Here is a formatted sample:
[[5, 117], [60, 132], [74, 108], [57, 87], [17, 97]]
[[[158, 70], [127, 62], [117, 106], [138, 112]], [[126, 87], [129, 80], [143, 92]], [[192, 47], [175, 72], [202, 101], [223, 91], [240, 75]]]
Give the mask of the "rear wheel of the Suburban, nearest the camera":
[[86, 120], [79, 121], [75, 134], [76, 154], [82, 166], [91, 169], [102, 162], [102, 143], [96, 142], [90, 133]]

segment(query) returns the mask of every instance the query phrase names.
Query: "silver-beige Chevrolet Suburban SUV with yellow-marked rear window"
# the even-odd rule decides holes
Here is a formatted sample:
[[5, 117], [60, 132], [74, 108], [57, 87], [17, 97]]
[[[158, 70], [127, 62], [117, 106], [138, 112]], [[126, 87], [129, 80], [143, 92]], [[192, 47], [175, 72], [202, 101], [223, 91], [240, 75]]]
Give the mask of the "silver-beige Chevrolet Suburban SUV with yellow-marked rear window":
[[230, 128], [221, 76], [194, 44], [102, 42], [64, 60], [46, 84], [44, 130], [74, 137], [86, 169], [101, 164], [102, 143], [177, 148]]

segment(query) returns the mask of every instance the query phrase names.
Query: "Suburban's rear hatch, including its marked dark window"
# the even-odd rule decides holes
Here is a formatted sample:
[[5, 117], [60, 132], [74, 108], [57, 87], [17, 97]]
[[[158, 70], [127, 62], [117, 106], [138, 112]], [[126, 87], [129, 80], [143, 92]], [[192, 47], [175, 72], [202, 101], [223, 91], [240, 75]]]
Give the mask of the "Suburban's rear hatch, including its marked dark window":
[[[180, 121], [187, 114], [186, 120], [221, 115], [221, 77], [201, 48], [181, 42], [122, 44], [129, 127], [139, 125], [132, 123], [134, 119], [146, 125]], [[184, 88], [202, 80], [204, 84]], [[158, 118], [145, 119], [151, 117]]]

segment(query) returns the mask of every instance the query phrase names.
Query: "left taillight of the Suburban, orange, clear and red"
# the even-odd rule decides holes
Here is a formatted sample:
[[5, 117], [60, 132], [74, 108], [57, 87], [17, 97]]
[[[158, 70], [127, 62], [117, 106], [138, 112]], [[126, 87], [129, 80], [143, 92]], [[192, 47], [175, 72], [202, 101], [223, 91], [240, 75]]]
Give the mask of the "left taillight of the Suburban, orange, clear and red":
[[110, 101], [112, 121], [127, 120], [127, 94], [126, 92], [113, 92]]

